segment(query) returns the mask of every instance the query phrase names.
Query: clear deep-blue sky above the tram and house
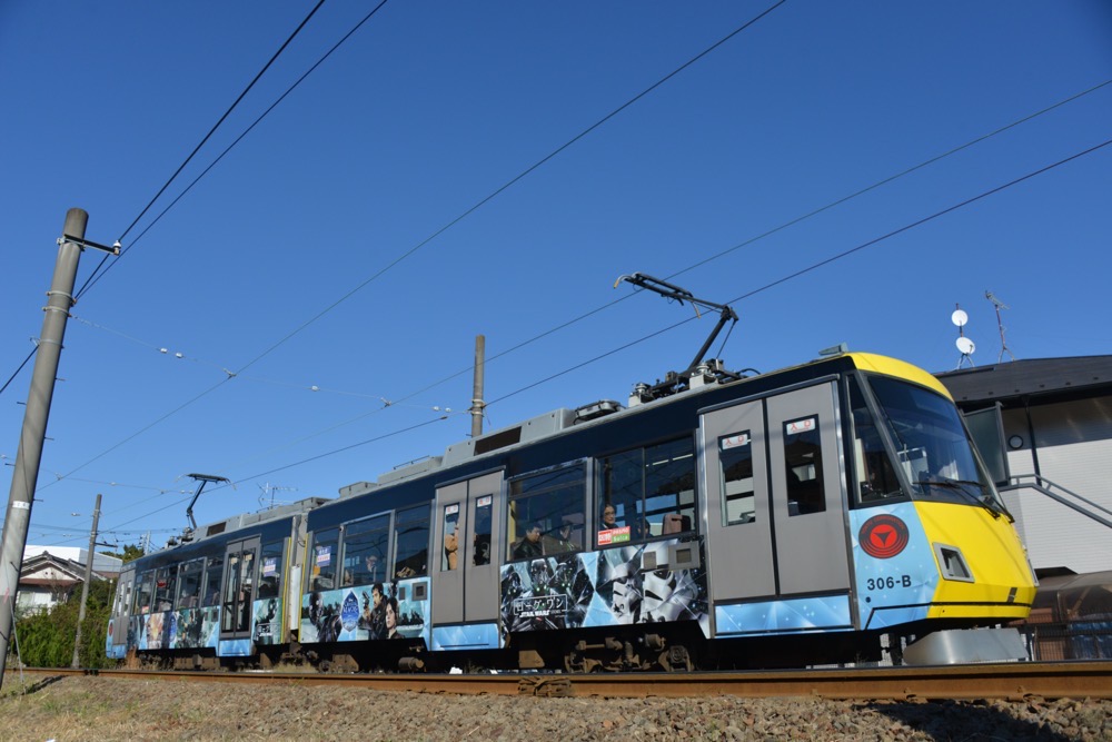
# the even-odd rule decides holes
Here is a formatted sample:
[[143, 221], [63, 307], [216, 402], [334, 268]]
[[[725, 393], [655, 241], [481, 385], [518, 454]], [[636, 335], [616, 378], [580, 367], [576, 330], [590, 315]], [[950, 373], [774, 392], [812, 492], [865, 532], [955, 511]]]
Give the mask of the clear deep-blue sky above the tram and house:
[[331, 0], [129, 230], [314, 4], [0, 4], [0, 383], [67, 209], [127, 249], [72, 310], [31, 543], [83, 544], [98, 492], [108, 540], [161, 543], [188, 472], [236, 483], [205, 523], [440, 454], [478, 334], [487, 429], [624, 403], [715, 321], [661, 332], [693, 315], [613, 288], [634, 271], [732, 303], [732, 368], [844, 342], [950, 369], [956, 304], [993, 363], [986, 289], [1017, 358], [1112, 343], [1112, 146], [930, 218], [1112, 137], [1103, 0], [788, 0], [625, 108], [774, 2], [393, 0], [167, 210], [375, 7]]

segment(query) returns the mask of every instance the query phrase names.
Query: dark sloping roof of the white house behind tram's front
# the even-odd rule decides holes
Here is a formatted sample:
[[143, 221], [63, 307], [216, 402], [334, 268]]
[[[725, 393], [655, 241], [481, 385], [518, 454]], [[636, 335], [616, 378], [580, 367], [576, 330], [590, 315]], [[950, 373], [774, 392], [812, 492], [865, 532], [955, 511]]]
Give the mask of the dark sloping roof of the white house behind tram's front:
[[[1019, 400], [1112, 393], [1112, 356], [1032, 358], [935, 374], [954, 400]], [[1102, 389], [1103, 387], [1103, 389]], [[1049, 400], [1049, 399], [1048, 399]]]

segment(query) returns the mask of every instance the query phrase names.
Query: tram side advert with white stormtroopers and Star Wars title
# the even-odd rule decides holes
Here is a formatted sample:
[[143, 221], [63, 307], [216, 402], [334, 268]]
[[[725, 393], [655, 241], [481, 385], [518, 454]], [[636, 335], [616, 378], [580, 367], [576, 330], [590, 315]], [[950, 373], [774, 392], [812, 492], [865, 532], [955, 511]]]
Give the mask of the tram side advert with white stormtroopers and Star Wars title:
[[[669, 570], [673, 538], [639, 546], [544, 556], [502, 567], [503, 632], [697, 621], [709, 635], [706, 573]], [[644, 571], [652, 554], [659, 570]], [[504, 640], [505, 640], [504, 635]]]

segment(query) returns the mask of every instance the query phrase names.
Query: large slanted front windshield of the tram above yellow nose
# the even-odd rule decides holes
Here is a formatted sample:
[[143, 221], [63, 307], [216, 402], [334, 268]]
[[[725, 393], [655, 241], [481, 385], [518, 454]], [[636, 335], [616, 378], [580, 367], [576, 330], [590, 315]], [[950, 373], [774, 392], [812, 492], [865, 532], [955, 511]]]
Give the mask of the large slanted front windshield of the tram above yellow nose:
[[914, 499], [964, 502], [1006, 515], [951, 400], [894, 378], [870, 376], [868, 383]]

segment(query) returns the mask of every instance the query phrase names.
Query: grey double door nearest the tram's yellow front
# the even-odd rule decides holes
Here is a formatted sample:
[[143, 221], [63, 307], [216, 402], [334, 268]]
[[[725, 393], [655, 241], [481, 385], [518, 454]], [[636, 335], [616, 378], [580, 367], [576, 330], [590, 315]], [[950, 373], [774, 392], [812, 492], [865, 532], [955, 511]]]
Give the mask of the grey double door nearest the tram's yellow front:
[[850, 590], [833, 380], [702, 415], [714, 601]]

